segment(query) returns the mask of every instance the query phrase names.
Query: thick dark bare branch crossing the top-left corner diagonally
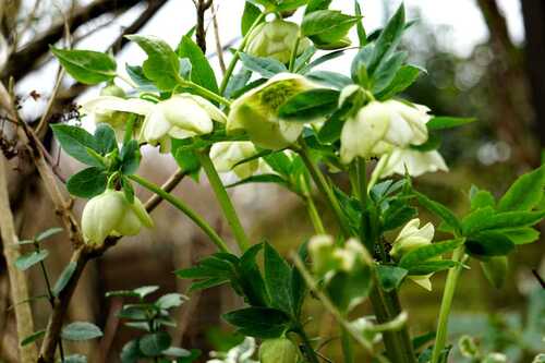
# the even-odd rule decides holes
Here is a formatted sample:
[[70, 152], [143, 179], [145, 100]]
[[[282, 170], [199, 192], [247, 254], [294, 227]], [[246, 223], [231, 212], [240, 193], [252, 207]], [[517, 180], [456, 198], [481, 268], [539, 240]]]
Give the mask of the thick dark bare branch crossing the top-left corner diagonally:
[[[77, 8], [69, 19], [70, 32], [74, 32], [89, 20], [96, 19], [109, 12], [126, 10], [143, 0], [96, 0], [87, 7]], [[150, 1], [150, 3], [160, 1]], [[56, 44], [64, 35], [64, 22], [53, 24], [47, 32], [34, 41], [24, 46], [21, 50], [11, 55], [1, 73], [1, 78], [13, 76], [15, 81], [21, 80], [35, 69], [39, 59], [49, 51], [49, 45]]]

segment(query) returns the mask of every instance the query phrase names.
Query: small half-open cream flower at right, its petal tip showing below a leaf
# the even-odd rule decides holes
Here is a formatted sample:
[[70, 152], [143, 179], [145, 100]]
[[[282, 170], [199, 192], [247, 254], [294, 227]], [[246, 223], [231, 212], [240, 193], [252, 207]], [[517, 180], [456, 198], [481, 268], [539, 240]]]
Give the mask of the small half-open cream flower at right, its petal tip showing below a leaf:
[[[426, 223], [424, 227], [420, 228], [420, 219], [414, 218], [411, 219], [399, 232], [398, 238], [393, 241], [393, 246], [390, 251], [390, 256], [393, 259], [399, 261], [401, 257], [417, 247], [423, 245], [432, 244], [432, 240], [434, 239], [435, 229], [432, 223]], [[429, 277], [433, 274], [428, 275], [410, 275], [408, 276], [411, 280], [423, 287], [424, 289], [431, 291], [432, 282], [429, 281]]]

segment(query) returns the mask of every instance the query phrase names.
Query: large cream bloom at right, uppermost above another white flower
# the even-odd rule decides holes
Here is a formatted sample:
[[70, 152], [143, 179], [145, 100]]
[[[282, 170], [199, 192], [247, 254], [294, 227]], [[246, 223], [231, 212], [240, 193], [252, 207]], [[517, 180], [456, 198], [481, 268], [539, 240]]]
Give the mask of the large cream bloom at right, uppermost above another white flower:
[[371, 101], [342, 126], [341, 161], [348, 164], [356, 156], [378, 156], [392, 147], [425, 143], [428, 111], [425, 106], [409, 106], [397, 100]]

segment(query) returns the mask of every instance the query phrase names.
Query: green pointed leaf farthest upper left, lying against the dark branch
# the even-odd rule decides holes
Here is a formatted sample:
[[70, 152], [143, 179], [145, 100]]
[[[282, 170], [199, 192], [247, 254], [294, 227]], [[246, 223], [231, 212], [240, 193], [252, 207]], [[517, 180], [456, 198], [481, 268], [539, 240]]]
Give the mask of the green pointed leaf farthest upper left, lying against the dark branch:
[[51, 52], [77, 82], [98, 84], [116, 77], [116, 60], [101, 51], [69, 50], [50, 46]]

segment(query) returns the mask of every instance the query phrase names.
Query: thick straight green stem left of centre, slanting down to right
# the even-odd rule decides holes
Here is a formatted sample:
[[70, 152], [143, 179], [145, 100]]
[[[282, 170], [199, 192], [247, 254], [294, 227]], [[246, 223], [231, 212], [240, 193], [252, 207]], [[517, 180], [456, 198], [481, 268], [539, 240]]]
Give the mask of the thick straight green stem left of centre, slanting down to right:
[[250, 249], [250, 240], [247, 239], [246, 232], [244, 231], [244, 228], [240, 222], [239, 215], [237, 214], [237, 210], [231, 203], [231, 198], [229, 197], [229, 194], [227, 194], [226, 187], [219, 179], [218, 172], [210, 160], [208, 150], [203, 150], [201, 153], [197, 153], [197, 155], [198, 160], [201, 161], [201, 166], [208, 177], [208, 182], [210, 183], [210, 186], [216, 194], [216, 198], [218, 199], [219, 205], [223, 210], [223, 216], [231, 227], [234, 239], [237, 240], [241, 252], [244, 252]]

